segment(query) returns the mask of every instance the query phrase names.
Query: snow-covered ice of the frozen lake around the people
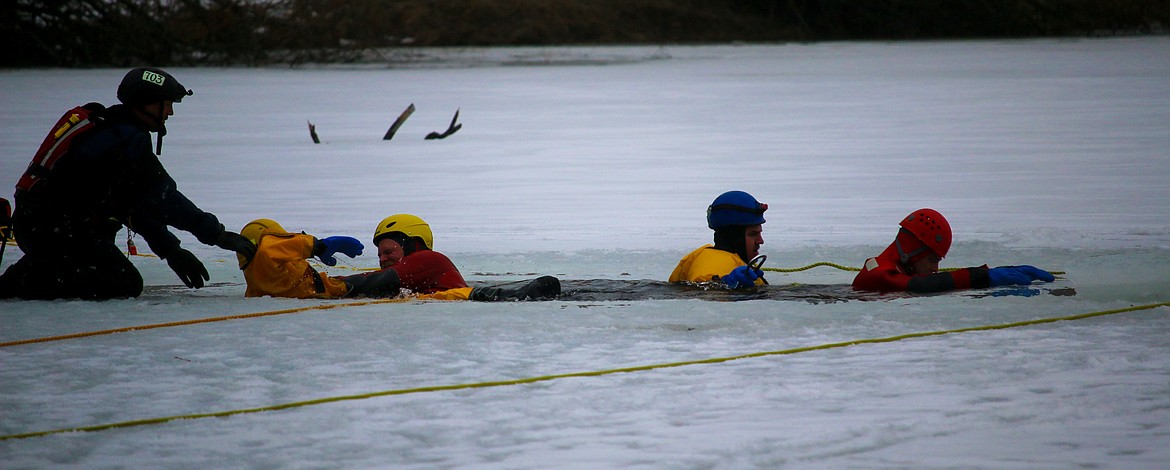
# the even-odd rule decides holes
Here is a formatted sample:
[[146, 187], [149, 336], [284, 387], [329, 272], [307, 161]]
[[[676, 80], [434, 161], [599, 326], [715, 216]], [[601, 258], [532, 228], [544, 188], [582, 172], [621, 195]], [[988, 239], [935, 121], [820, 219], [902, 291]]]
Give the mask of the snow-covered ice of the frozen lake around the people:
[[[710, 200], [743, 189], [770, 206], [768, 267], [858, 267], [902, 216], [932, 207], [955, 229], [943, 267], [1034, 264], [1064, 271], [1052, 286], [1076, 295], [373, 303], [5, 346], [6, 437], [325, 402], [5, 438], [2, 466], [1170, 462], [1166, 306], [426, 390], [1170, 302], [1170, 37], [424, 53], [391, 65], [168, 69], [195, 94], [176, 106], [161, 159], [232, 229], [271, 217], [366, 241], [386, 215], [418, 214], [473, 283], [665, 279], [709, 242]], [[0, 71], [0, 195], [12, 200], [63, 111], [112, 104], [124, 72]], [[456, 109], [463, 129], [424, 140]], [[165, 262], [137, 256], [143, 297], [0, 300], [0, 343], [350, 303], [246, 299], [233, 254], [179, 235], [211, 286], [181, 288]], [[373, 268], [372, 251], [328, 271]], [[0, 268], [19, 256], [9, 247]]]

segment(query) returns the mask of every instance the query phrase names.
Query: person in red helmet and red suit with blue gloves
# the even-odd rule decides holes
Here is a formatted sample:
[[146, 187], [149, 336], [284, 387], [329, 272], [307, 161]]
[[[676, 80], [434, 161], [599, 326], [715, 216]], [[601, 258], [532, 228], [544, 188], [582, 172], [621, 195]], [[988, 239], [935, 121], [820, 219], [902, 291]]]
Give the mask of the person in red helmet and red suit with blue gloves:
[[940, 272], [938, 262], [951, 246], [951, 228], [938, 210], [923, 208], [902, 222], [894, 242], [880, 255], [866, 260], [853, 289], [874, 292], [945, 292], [1000, 285], [1052, 282], [1052, 274], [1031, 265], [962, 268]]

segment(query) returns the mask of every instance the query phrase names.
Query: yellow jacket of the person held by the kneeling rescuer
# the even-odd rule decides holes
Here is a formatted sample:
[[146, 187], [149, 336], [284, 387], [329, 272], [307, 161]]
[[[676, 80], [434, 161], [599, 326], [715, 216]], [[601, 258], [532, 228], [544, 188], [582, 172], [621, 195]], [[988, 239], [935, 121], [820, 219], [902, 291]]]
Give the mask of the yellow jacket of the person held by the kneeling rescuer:
[[305, 234], [268, 231], [260, 234], [256, 257], [243, 269], [248, 283], [246, 297], [340, 298], [349, 292], [345, 282], [317, 272], [309, 262], [317, 239]]

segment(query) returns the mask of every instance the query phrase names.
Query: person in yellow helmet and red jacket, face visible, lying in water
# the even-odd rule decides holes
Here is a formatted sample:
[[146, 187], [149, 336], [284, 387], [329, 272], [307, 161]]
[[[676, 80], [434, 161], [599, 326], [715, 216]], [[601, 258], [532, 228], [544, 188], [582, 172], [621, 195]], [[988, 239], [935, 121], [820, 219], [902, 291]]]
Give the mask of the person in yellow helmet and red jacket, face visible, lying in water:
[[[543, 276], [518, 288], [469, 288], [463, 275], [446, 255], [435, 251], [431, 224], [413, 214], [394, 214], [374, 227], [378, 272], [398, 275], [400, 286], [420, 298], [442, 300], [503, 300], [551, 298], [560, 293], [560, 281]], [[351, 277], [358, 277], [357, 275]]]

